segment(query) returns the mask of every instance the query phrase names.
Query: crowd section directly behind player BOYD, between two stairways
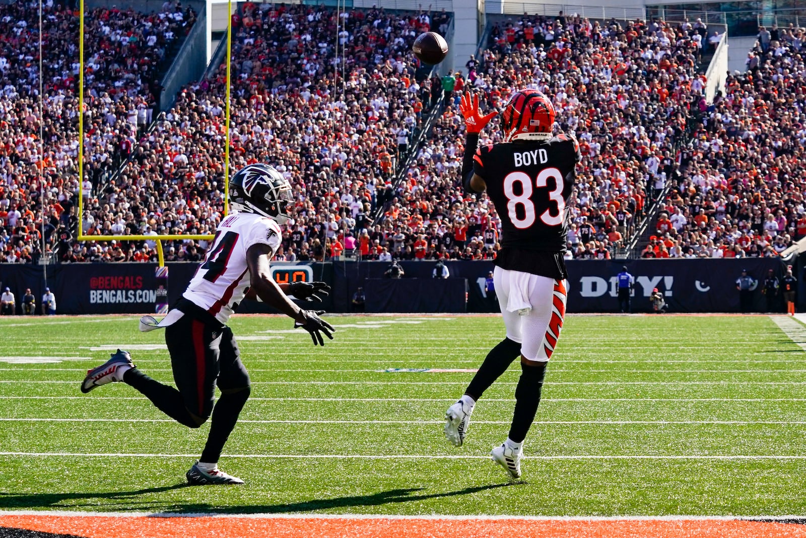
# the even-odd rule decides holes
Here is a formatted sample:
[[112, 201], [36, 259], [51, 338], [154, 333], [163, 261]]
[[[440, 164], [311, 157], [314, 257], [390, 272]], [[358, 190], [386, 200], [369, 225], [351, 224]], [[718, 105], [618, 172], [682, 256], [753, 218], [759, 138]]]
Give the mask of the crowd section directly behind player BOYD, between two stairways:
[[[580, 140], [567, 257], [609, 258], [634, 232], [647, 198], [679, 176], [676, 156], [688, 106], [704, 87], [694, 71], [695, 36], [701, 37], [657, 21], [600, 25], [562, 14], [496, 25], [484, 56], [467, 62], [466, 77], [455, 74], [444, 113], [386, 211], [381, 234], [405, 236], [391, 245], [393, 255], [495, 256], [495, 208], [486, 195], [467, 197], [458, 187], [464, 152], [459, 95], [475, 90], [500, 108], [513, 90], [529, 87], [555, 99], [560, 129]], [[481, 144], [501, 141], [496, 119], [486, 131]]]

